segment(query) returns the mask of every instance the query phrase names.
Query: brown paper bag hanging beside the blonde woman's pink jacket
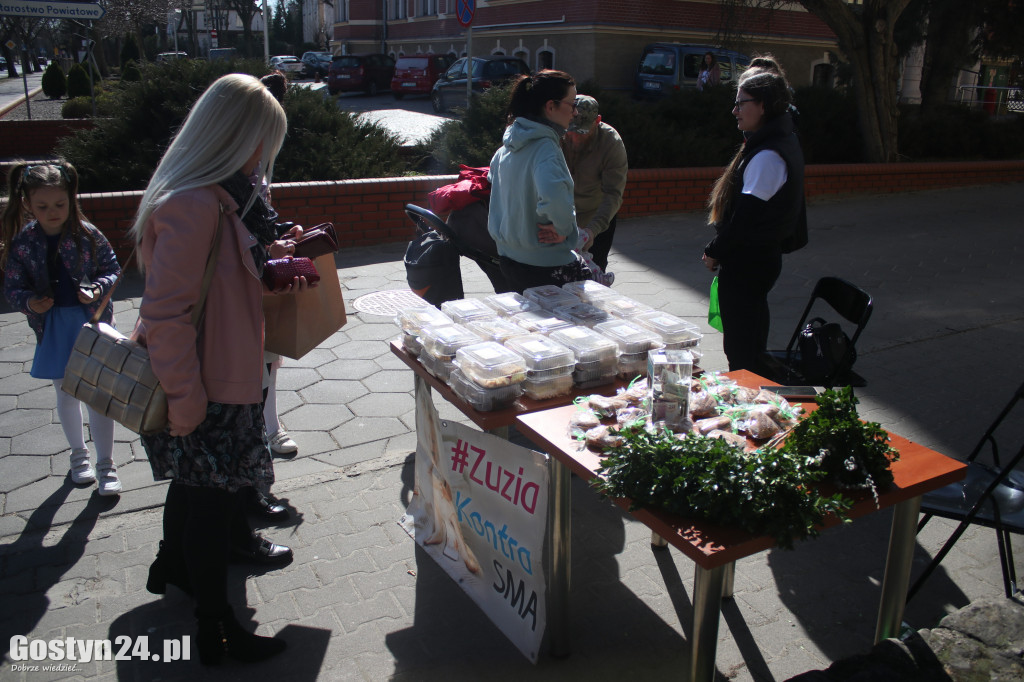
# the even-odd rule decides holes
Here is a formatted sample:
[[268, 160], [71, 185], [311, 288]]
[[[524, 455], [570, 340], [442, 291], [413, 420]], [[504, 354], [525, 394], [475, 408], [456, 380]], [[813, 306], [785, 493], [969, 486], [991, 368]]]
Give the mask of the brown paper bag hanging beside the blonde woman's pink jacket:
[[263, 297], [264, 348], [298, 359], [345, 325], [341, 282], [329, 253], [313, 260], [319, 284], [301, 294]]

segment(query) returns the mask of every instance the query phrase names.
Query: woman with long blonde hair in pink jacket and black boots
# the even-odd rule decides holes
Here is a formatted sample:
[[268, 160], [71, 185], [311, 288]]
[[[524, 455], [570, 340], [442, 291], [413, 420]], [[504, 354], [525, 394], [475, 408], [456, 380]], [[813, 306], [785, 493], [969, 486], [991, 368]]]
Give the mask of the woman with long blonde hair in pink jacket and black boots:
[[[154, 478], [171, 480], [146, 587], [160, 594], [171, 583], [191, 592], [206, 665], [285, 649], [284, 640], [239, 625], [227, 601], [227, 563], [239, 491], [273, 481], [261, 404], [262, 297], [269, 292], [260, 275], [279, 236], [276, 214], [258, 189], [272, 175], [286, 129], [284, 110], [262, 83], [221, 77], [164, 154], [132, 227], [145, 270], [134, 337], [148, 348], [168, 399], [167, 429], [142, 436]], [[211, 254], [197, 328], [190, 315]], [[297, 278], [273, 293], [305, 287]]]

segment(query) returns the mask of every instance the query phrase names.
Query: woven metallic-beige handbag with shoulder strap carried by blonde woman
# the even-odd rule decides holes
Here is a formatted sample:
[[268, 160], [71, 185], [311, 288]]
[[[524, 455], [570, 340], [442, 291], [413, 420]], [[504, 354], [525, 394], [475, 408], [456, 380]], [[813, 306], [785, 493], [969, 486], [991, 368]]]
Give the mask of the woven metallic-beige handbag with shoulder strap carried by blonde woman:
[[[221, 220], [206, 261], [199, 301], [193, 307], [191, 323], [199, 327], [206, 306], [206, 294], [220, 247]], [[99, 414], [135, 433], [151, 434], [167, 427], [167, 394], [153, 373], [150, 352], [99, 317], [114, 293], [106, 292], [102, 303], [82, 327], [75, 340], [61, 389]]]

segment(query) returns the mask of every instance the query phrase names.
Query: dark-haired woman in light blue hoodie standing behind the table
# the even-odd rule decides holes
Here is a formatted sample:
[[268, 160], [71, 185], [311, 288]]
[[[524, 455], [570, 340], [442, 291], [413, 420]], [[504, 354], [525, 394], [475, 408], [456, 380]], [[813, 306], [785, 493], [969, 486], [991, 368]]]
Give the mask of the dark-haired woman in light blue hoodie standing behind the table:
[[523, 289], [592, 279], [580, 242], [572, 176], [560, 140], [575, 113], [572, 77], [545, 70], [512, 87], [502, 146], [490, 160], [487, 231], [502, 274]]

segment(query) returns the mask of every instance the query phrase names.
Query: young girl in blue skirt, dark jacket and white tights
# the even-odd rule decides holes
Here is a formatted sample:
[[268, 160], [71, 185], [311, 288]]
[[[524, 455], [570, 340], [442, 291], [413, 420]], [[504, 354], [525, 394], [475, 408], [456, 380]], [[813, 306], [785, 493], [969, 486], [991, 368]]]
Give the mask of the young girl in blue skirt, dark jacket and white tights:
[[[71, 445], [71, 479], [91, 483], [97, 470], [85, 446], [82, 404], [60, 384], [79, 330], [121, 276], [121, 266], [106, 239], [82, 217], [78, 173], [71, 164], [15, 165], [7, 197], [0, 233], [4, 295], [28, 315], [36, 333], [32, 376], [52, 380], [56, 389], [57, 416]], [[29, 216], [34, 219], [26, 225]], [[113, 305], [106, 305], [101, 319], [113, 324]], [[90, 408], [89, 430], [99, 495], [118, 495], [121, 481], [111, 457], [114, 422]]]

